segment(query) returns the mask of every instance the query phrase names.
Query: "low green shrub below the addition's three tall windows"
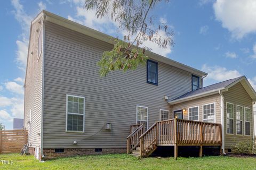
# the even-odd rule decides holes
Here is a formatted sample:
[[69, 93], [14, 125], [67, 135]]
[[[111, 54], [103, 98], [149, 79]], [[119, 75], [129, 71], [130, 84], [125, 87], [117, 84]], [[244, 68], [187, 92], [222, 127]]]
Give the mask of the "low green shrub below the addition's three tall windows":
[[233, 145], [233, 149], [231, 150], [232, 154], [255, 154], [255, 141], [246, 140], [239, 141], [235, 145]]

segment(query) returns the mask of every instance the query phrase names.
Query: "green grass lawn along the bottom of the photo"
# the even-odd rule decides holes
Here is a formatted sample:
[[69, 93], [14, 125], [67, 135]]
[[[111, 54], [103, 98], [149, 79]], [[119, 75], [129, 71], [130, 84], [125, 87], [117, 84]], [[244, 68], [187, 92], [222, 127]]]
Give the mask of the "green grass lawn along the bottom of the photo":
[[[1, 160], [13, 160], [13, 165]], [[34, 156], [0, 155], [0, 169], [256, 169], [256, 158], [210, 156], [203, 158], [145, 158], [126, 154], [77, 156], [38, 162]]]

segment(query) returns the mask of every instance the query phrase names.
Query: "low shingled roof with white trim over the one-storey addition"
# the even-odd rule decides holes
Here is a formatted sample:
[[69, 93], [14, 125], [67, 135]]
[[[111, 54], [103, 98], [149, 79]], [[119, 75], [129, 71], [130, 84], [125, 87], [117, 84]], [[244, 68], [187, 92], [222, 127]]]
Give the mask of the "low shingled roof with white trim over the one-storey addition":
[[169, 101], [169, 104], [177, 104], [184, 101], [201, 98], [205, 96], [210, 96], [213, 94], [218, 94], [219, 91], [228, 91], [230, 87], [233, 87], [236, 83], [241, 82], [246, 92], [250, 95], [250, 97], [255, 101], [256, 100], [256, 92], [252, 88], [249, 81], [246, 79], [245, 76], [238, 77], [235, 79], [229, 79], [226, 81], [222, 81], [219, 83], [212, 84], [210, 86], [203, 87], [201, 89], [197, 89], [194, 91], [189, 91], [186, 94], [183, 94], [173, 100]]

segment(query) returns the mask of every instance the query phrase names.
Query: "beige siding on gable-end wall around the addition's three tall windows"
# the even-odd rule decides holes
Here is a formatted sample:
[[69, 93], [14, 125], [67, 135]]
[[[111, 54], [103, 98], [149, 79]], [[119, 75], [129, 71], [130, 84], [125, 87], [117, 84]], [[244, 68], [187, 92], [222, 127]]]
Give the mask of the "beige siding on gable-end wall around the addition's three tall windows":
[[[227, 92], [223, 92], [224, 96], [224, 133], [225, 133], [225, 148], [232, 148], [232, 145], [239, 141], [252, 139], [253, 125], [252, 125], [252, 99], [247, 94], [241, 83], [235, 84]], [[226, 102], [234, 104], [234, 135], [227, 134], [227, 114], [226, 114]], [[243, 135], [236, 135], [236, 105], [243, 106]], [[251, 137], [244, 135], [244, 107], [249, 107], [251, 111], [250, 122], [250, 134]]]

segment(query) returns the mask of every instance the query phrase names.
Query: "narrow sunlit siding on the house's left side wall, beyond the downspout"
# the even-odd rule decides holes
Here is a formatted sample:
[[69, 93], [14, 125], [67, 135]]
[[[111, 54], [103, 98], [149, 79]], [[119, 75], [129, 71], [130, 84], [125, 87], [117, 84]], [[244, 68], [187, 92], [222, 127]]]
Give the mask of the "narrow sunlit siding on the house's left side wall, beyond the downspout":
[[[37, 56], [38, 35], [40, 29], [41, 24], [38, 23], [38, 21], [31, 25], [25, 82], [24, 126], [28, 130], [28, 142], [31, 143], [32, 147], [41, 145], [40, 133], [42, 123], [42, 53], [39, 57], [39, 60]], [[28, 121], [30, 121], [30, 109], [31, 123], [29, 125]]]

